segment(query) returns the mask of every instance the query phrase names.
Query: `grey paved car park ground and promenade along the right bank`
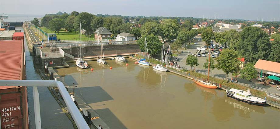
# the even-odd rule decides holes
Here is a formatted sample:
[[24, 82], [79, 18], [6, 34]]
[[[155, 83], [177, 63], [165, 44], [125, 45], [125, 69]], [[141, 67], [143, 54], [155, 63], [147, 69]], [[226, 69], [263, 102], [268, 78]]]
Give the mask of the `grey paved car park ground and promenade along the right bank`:
[[[201, 37], [197, 37], [197, 39], [201, 39]], [[178, 54], [178, 56], [177, 56], [179, 58], [178, 63], [179, 63], [180, 66], [185, 66], [185, 68], [187, 68], [187, 69], [191, 68], [191, 66], [186, 65], [187, 56], [189, 54], [191, 54], [191, 53], [196, 54], [196, 52], [197, 52], [196, 48], [204, 46], [204, 43], [205, 43], [204, 41], [194, 41], [194, 42], [198, 42], [198, 44], [194, 45], [194, 43], [191, 43], [190, 45], [189, 44], [187, 45], [188, 49], [186, 49], [186, 50], [178, 50], [179, 53], [180, 53], [180, 51], [183, 51], [182, 55]], [[211, 55], [212, 54], [213, 53], [211, 53]], [[205, 54], [205, 56], [206, 57], [202, 57], [202, 56], [198, 57], [197, 56], [199, 65], [195, 66], [195, 69], [197, 71], [201, 71], [201, 72], [207, 73], [207, 69], [205, 69], [203, 67], [203, 64], [208, 62], [208, 54]], [[210, 58], [212, 58], [212, 57], [210, 57]], [[224, 73], [222, 70], [218, 70], [216, 68], [214, 70], [210, 70], [210, 74], [213, 74], [215, 76], [219, 76], [219, 77], [222, 77], [222, 78], [226, 77], [226, 73]], [[231, 77], [235, 78], [234, 76], [232, 76], [231, 73], [229, 73], [228, 78], [231, 78]], [[250, 85], [255, 86], [255, 87], [264, 88], [264, 89], [268, 90], [268, 92], [271, 92], [271, 93], [278, 93], [278, 94], [280, 94], [280, 90], [279, 91], [276, 90], [277, 86], [272, 86], [272, 85], [264, 86], [264, 85], [262, 85], [263, 83], [258, 82], [256, 79], [252, 79], [252, 82], [249, 82], [247, 80], [243, 80], [243, 79], [237, 77], [237, 81], [240, 82], [240, 83], [250, 84]]]

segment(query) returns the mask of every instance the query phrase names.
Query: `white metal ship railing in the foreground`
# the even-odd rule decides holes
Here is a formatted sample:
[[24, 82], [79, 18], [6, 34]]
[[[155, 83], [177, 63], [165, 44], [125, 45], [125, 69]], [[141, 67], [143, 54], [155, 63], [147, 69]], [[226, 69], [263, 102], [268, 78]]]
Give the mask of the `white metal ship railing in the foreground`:
[[40, 115], [40, 101], [37, 87], [58, 87], [58, 90], [67, 105], [69, 112], [73, 120], [75, 121], [79, 129], [89, 129], [88, 124], [82, 117], [81, 112], [73, 102], [64, 84], [61, 81], [53, 80], [0, 80], [1, 86], [24, 86], [33, 87], [33, 99], [34, 99], [34, 112], [35, 112], [35, 124], [37, 129], [41, 129], [41, 115]]

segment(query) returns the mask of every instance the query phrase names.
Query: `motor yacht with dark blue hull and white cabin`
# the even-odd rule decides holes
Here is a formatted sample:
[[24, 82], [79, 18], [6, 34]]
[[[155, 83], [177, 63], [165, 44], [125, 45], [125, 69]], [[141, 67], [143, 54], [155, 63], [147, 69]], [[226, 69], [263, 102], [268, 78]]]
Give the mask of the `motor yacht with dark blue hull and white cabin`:
[[264, 99], [253, 97], [249, 90], [243, 91], [231, 88], [230, 90], [226, 90], [226, 96], [247, 104], [258, 106], [264, 106], [264, 104], [266, 104], [266, 101]]

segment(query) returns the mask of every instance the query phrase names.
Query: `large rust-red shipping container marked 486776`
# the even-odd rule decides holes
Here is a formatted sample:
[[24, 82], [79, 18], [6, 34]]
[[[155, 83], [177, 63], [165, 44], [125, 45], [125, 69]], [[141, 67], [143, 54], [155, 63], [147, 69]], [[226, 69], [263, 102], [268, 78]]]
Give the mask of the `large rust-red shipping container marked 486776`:
[[[25, 80], [23, 41], [0, 41], [0, 51], [0, 80]], [[1, 86], [0, 98], [1, 128], [29, 128], [26, 87]]]

